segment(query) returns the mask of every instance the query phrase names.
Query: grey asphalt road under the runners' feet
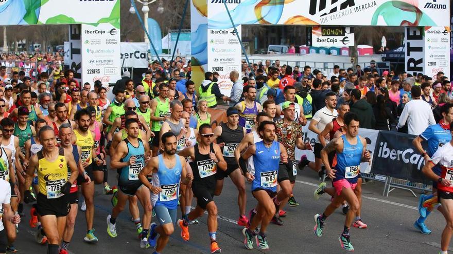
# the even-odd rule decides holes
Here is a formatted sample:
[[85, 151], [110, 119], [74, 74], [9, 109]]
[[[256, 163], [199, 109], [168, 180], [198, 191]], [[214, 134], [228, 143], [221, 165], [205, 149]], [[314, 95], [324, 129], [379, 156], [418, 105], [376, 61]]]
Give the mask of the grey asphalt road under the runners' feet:
[[[109, 175], [111, 185], [116, 184], [115, 171]], [[225, 179], [225, 184], [220, 197], [215, 198], [218, 206], [218, 233], [217, 241], [223, 253], [344, 253], [340, 248], [338, 236], [343, 230], [344, 216], [337, 210], [330, 216], [324, 228], [323, 236], [317, 238], [313, 235], [313, 216], [322, 213], [329, 203], [327, 195], [318, 201], [312, 198], [313, 190], [319, 181], [314, 172], [305, 169], [299, 171], [294, 196], [300, 203], [297, 207], [286, 207], [288, 216], [283, 218], [285, 225], [271, 224], [268, 228], [268, 243], [270, 249], [263, 251], [258, 248], [246, 250], [243, 246], [242, 227], [235, 224], [238, 218], [236, 203], [237, 190], [230, 179]], [[328, 185], [330, 183], [327, 183]], [[247, 210], [250, 210], [256, 201], [250, 193], [250, 184], [246, 184]], [[368, 224], [368, 229], [351, 228], [351, 242], [356, 253], [438, 253], [440, 250], [441, 232], [445, 220], [439, 212], [433, 212], [426, 221], [432, 230], [431, 235], [422, 235], [413, 227], [418, 218], [416, 210], [417, 198], [407, 190], [394, 190], [390, 197], [382, 197], [383, 183], [372, 182], [362, 186], [363, 222]], [[419, 192], [415, 192], [419, 194]], [[130, 221], [129, 211], [126, 209], [117, 220], [116, 238], [107, 235], [106, 217], [111, 212], [111, 196], [102, 194], [101, 186], [96, 186], [95, 193], [95, 235], [99, 238], [97, 244], [83, 242], [85, 236], [84, 212], [77, 215], [75, 233], [71, 244], [70, 253], [152, 253], [153, 249], [140, 249], [135, 234], [135, 227]], [[195, 202], [193, 202], [195, 205]], [[46, 253], [47, 247], [34, 241], [34, 229], [28, 225], [29, 205], [26, 205], [26, 217], [19, 226], [18, 240], [15, 243], [20, 253]], [[178, 209], [180, 217], [180, 210]], [[200, 224], [189, 226], [190, 241], [185, 242], [180, 237], [180, 229], [176, 227], [175, 233], [165, 248], [165, 253], [209, 253], [210, 240], [208, 238], [206, 216], [200, 218]], [[153, 221], [155, 219], [153, 218]]]

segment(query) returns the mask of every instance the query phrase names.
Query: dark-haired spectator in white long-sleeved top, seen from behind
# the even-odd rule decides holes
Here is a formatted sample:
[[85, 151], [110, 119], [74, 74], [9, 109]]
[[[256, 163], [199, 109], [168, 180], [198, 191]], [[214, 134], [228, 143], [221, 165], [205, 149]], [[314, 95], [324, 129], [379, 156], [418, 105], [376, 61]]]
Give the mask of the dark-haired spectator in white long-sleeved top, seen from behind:
[[412, 100], [404, 107], [399, 117], [397, 128], [403, 127], [407, 122], [408, 133], [420, 135], [428, 127], [428, 124], [435, 124], [434, 115], [431, 111], [431, 106], [420, 99], [422, 95], [420, 86], [413, 86], [411, 94]]

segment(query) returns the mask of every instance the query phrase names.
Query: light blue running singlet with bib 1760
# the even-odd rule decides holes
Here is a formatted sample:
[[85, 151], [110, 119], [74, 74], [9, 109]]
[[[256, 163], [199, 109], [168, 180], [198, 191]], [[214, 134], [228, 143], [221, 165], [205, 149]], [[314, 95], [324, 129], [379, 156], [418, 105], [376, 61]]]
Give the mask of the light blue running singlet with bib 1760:
[[172, 210], [178, 207], [179, 182], [181, 181], [181, 160], [179, 156], [175, 156], [176, 164], [173, 168], [167, 168], [162, 158], [162, 154], [158, 155], [159, 170], [152, 175], [152, 185], [159, 186], [162, 191], [159, 194], [151, 192], [151, 204], [153, 207], [162, 205]]

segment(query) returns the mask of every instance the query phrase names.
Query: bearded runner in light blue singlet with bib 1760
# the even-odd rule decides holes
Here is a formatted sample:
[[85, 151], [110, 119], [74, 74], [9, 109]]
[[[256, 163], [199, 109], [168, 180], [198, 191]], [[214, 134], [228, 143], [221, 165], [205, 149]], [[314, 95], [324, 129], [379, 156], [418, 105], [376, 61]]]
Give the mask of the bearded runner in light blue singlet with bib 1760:
[[[160, 226], [151, 223], [149, 242], [155, 247], [154, 253], [161, 253], [175, 230], [178, 207], [179, 183], [186, 185], [194, 176], [187, 173], [184, 157], [175, 155], [178, 139], [173, 132], [165, 132], [161, 137], [164, 152], [152, 158], [138, 175], [142, 183], [151, 191], [151, 202]], [[152, 184], [147, 175], [152, 173]], [[157, 238], [157, 235], [160, 235]]]

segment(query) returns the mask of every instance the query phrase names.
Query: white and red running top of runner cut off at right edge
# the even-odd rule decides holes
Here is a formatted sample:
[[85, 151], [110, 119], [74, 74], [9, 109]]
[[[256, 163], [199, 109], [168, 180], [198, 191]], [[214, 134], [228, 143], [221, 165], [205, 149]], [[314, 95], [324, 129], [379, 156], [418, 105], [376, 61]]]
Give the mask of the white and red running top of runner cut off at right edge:
[[[431, 163], [437, 165], [441, 168], [441, 177], [453, 182], [453, 147], [451, 143], [448, 142], [444, 146], [440, 147], [437, 151], [434, 152], [431, 158]], [[437, 188], [446, 192], [453, 192], [453, 185], [444, 186], [443, 184], [438, 184]]]

